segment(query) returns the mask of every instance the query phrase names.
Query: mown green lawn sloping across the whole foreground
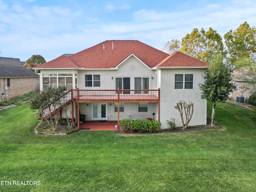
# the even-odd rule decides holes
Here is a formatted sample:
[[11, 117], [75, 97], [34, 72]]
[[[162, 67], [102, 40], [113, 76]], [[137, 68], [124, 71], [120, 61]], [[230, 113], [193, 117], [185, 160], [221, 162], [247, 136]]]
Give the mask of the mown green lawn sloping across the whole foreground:
[[242, 107], [217, 103], [216, 122], [226, 130], [133, 137], [38, 136], [35, 115], [28, 104], [0, 112], [1, 192], [256, 191], [256, 127]]

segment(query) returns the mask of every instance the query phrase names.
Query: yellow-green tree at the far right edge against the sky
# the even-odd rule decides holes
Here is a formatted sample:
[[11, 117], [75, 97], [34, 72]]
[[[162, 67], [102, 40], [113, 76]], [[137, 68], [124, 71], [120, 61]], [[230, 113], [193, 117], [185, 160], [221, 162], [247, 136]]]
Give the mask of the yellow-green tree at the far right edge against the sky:
[[250, 27], [247, 22], [236, 30], [224, 34], [228, 51], [227, 61], [231, 68], [236, 68], [236, 62], [242, 58], [252, 58], [256, 61], [256, 28]]

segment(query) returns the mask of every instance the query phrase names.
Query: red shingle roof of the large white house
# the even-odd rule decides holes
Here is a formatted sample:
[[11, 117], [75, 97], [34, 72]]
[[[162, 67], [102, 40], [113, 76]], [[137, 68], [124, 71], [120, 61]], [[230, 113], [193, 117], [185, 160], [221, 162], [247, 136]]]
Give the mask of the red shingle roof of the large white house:
[[37, 69], [52, 68], [115, 68], [134, 54], [148, 67], [206, 67], [206, 63], [181, 52], [169, 55], [138, 40], [107, 40], [68, 57], [60, 56]]

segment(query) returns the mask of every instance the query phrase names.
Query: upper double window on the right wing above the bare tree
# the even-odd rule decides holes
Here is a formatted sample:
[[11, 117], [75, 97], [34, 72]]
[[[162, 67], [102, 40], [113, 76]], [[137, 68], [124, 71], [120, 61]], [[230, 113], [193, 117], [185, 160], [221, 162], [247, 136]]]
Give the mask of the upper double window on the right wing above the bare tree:
[[174, 89], [193, 89], [194, 74], [175, 74]]

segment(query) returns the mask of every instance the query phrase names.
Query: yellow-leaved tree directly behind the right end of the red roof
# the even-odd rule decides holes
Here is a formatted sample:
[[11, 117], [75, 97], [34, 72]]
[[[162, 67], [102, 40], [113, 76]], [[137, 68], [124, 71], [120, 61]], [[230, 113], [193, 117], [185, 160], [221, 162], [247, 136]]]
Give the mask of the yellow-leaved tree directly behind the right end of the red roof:
[[182, 38], [181, 46], [181, 52], [207, 63], [217, 55], [226, 55], [221, 36], [212, 28], [207, 32], [204, 28], [201, 31], [195, 28], [191, 34]]

